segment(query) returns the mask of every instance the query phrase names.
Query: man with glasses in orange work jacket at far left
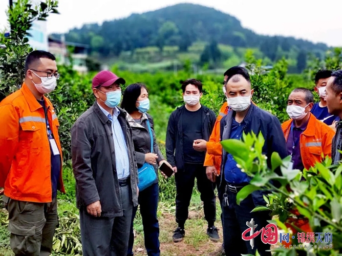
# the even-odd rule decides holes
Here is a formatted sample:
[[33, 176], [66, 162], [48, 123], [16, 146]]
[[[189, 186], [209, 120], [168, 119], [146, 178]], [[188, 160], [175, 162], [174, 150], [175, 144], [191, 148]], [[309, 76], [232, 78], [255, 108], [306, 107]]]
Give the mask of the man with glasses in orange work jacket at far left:
[[0, 187], [16, 256], [51, 254], [57, 190], [64, 192], [59, 123], [44, 97], [59, 78], [55, 60], [48, 52], [31, 52], [21, 89], [0, 102]]

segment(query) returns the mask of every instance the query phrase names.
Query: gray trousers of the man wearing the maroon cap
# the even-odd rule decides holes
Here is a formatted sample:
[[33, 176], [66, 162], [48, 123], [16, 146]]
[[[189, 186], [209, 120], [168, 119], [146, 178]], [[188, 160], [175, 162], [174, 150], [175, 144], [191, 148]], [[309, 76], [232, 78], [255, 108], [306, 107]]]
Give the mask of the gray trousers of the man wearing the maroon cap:
[[84, 256], [125, 256], [133, 203], [129, 184], [120, 186], [123, 216], [93, 217], [80, 209], [81, 240]]

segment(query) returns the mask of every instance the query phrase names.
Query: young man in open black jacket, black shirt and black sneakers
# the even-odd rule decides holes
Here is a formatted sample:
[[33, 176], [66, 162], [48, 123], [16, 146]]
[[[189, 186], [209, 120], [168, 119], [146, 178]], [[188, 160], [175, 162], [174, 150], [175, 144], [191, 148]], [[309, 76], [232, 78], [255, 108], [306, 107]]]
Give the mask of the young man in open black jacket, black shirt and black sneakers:
[[174, 242], [183, 240], [184, 224], [192, 196], [195, 177], [204, 203], [204, 215], [208, 221], [207, 234], [219, 239], [216, 220], [216, 205], [213, 183], [206, 176], [203, 167], [205, 149], [199, 148], [197, 139], [209, 140], [216, 116], [212, 110], [199, 103], [202, 97], [202, 83], [188, 79], [182, 84], [185, 105], [172, 112], [166, 135], [166, 156], [172, 165], [176, 180], [176, 221], [178, 228], [172, 236]]

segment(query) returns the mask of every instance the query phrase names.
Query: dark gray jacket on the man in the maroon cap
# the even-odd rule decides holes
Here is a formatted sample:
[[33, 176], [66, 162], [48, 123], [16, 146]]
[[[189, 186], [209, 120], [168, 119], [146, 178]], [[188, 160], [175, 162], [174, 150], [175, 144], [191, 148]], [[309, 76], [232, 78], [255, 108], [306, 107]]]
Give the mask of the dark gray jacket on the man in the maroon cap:
[[[131, 195], [138, 204], [138, 173], [132, 140], [125, 112], [120, 110], [121, 124], [128, 148]], [[72, 167], [76, 179], [76, 203], [80, 209], [100, 200], [103, 217], [123, 216], [119, 181], [115, 167], [111, 121], [96, 101], [71, 128]]]

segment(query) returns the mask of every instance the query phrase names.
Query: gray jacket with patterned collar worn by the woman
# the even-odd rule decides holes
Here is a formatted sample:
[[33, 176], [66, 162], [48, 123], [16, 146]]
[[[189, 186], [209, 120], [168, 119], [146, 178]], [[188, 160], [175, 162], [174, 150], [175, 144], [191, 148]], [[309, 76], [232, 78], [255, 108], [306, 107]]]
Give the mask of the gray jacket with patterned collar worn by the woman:
[[[157, 154], [158, 159], [157, 163], [161, 160], [164, 160], [162, 153], [159, 150], [159, 146], [157, 144], [155, 134], [154, 134], [154, 123], [153, 119], [149, 114], [143, 114], [141, 118], [141, 123], [137, 123], [128, 113], [127, 120], [132, 128], [132, 138], [134, 143], [135, 150], [135, 158], [137, 160], [138, 168], [142, 167], [145, 163], [145, 154], [151, 153], [151, 139], [148, 128], [147, 119], [149, 118], [149, 122], [151, 125], [152, 135], [153, 135], [153, 153]], [[158, 177], [158, 165], [154, 165], [154, 169], [157, 173]]]

